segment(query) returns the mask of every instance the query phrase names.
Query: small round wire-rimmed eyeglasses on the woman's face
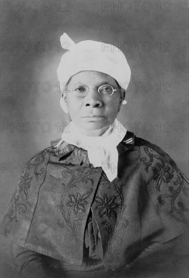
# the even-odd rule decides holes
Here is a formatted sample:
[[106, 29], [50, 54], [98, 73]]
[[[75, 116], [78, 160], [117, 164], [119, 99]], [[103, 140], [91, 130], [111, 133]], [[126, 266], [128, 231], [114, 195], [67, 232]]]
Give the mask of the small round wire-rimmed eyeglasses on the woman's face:
[[[109, 84], [104, 84], [95, 89], [100, 96], [110, 97], [113, 95], [114, 91], [119, 91], [121, 89], [114, 89]], [[77, 85], [73, 89], [68, 90], [74, 92], [78, 97], [84, 98], [89, 94], [89, 87], [86, 85]]]

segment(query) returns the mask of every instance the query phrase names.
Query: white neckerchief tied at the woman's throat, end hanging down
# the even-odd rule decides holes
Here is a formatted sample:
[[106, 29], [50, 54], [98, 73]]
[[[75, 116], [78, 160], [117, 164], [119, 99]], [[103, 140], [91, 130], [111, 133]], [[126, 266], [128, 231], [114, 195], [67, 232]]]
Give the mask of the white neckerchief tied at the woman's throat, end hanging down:
[[122, 141], [127, 130], [120, 122], [115, 121], [102, 136], [83, 135], [73, 121], [70, 122], [68, 133], [63, 132], [59, 147], [63, 141], [87, 150], [90, 163], [94, 167], [102, 167], [109, 181], [117, 176], [118, 152], [117, 145]]

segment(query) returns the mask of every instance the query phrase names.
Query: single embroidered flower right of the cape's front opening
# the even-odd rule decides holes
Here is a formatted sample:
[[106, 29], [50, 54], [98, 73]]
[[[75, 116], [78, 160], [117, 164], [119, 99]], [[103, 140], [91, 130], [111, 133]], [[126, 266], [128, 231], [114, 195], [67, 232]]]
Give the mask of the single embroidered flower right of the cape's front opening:
[[110, 213], [113, 212], [113, 209], [117, 206], [115, 203], [113, 203], [114, 199], [115, 197], [112, 197], [108, 200], [106, 194], [103, 196], [103, 198], [95, 198], [95, 202], [99, 204], [95, 207], [95, 209], [99, 209], [98, 215], [100, 217], [102, 217], [103, 214], [108, 217], [110, 216]]

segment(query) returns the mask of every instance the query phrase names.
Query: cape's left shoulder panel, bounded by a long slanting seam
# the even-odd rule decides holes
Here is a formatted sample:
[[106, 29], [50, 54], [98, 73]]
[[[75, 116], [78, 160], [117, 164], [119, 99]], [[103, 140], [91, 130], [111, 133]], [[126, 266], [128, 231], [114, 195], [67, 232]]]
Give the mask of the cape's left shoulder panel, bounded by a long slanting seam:
[[25, 243], [33, 219], [39, 190], [44, 182], [52, 148], [46, 148], [34, 155], [26, 164], [20, 176], [15, 194], [1, 226], [1, 233], [17, 243]]

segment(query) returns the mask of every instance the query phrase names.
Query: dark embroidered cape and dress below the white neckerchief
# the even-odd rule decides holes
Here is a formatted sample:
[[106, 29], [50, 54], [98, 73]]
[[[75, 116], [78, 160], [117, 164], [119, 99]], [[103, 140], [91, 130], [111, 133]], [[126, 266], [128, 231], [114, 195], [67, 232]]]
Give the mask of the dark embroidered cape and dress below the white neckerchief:
[[66, 142], [29, 161], [2, 223], [4, 235], [25, 247], [16, 258], [21, 269], [128, 276], [133, 265], [172, 250], [186, 228], [188, 183], [160, 148], [134, 139], [127, 132], [117, 146], [112, 182]]

